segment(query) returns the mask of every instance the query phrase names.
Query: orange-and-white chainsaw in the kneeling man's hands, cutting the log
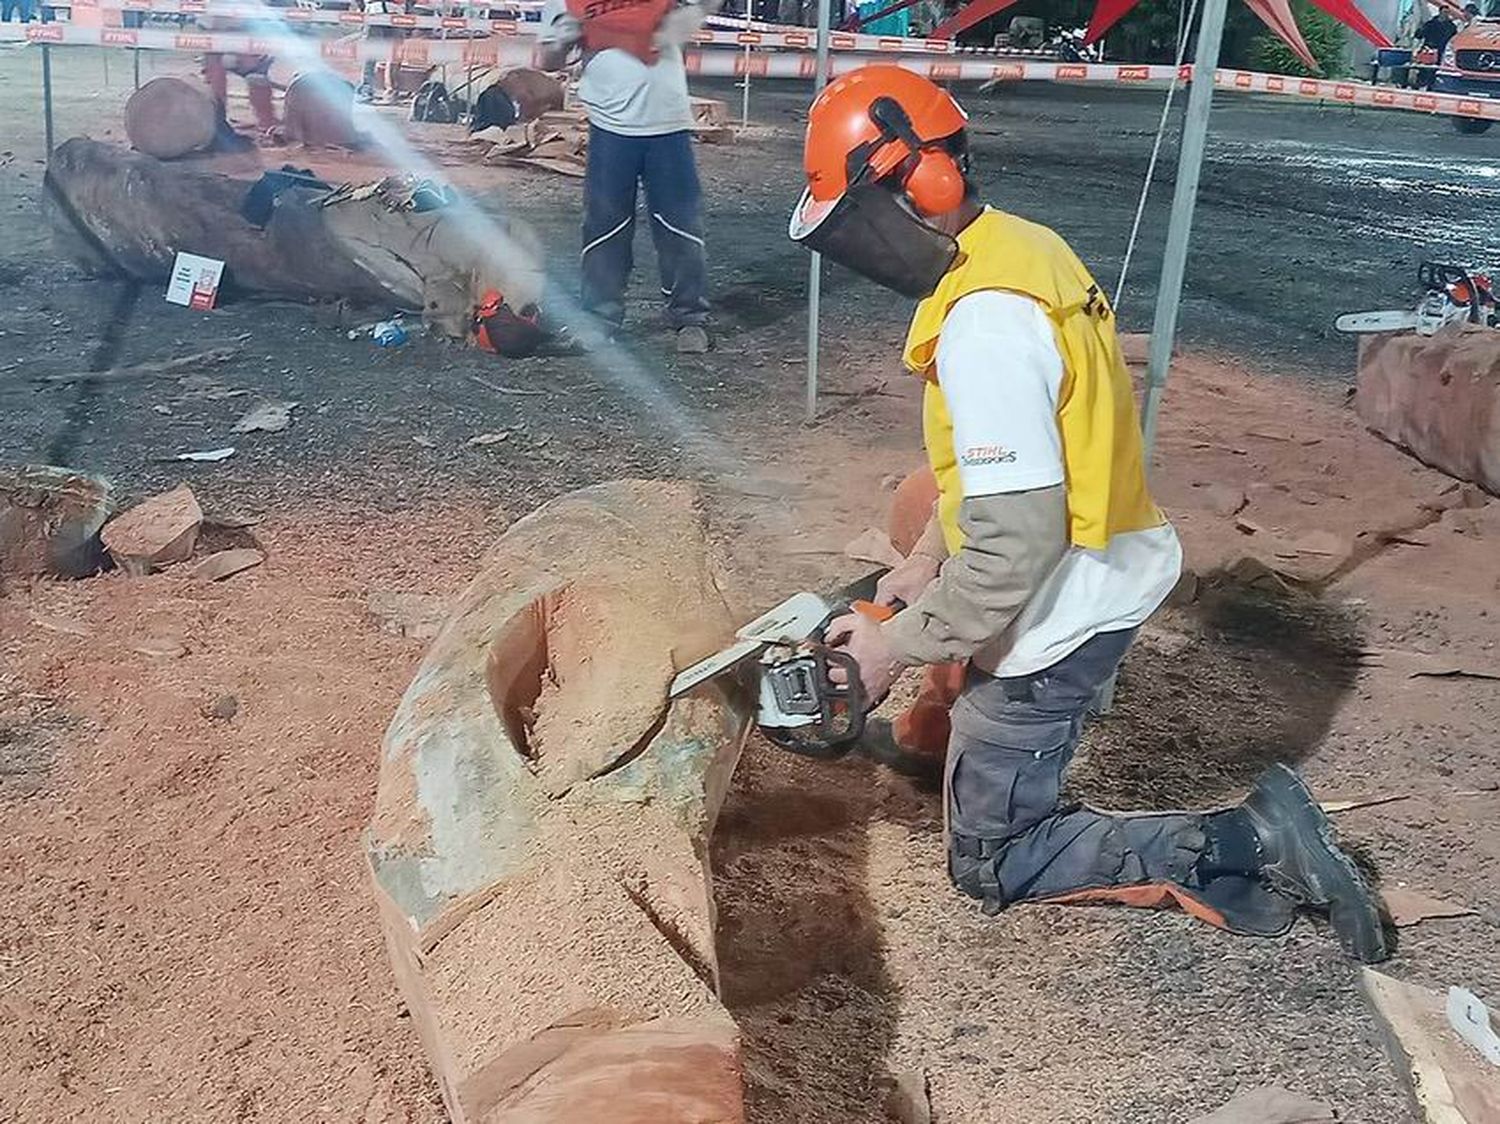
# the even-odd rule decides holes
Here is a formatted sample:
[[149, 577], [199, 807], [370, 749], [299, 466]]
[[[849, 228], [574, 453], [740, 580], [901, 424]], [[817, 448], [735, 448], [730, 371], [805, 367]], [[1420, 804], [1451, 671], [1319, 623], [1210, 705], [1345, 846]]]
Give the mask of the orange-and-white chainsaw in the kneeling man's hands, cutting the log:
[[[832, 761], [864, 734], [864, 720], [879, 699], [866, 695], [854, 656], [825, 642], [828, 626], [846, 612], [890, 620], [900, 603], [876, 605], [876, 570], [832, 596], [798, 593], [735, 632], [735, 642], [678, 672], [672, 698], [734, 677], [753, 692], [760, 732], [782, 749]], [[832, 671], [843, 672], [836, 683]]]

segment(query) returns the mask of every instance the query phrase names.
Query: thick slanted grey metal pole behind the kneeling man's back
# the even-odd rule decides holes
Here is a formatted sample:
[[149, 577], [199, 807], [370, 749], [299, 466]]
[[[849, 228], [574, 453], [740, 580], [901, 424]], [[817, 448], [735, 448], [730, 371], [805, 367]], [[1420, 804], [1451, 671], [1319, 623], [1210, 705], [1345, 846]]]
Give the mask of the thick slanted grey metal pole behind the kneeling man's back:
[[1167, 389], [1172, 366], [1172, 344], [1178, 333], [1178, 311], [1182, 306], [1182, 281], [1188, 270], [1188, 236], [1192, 233], [1192, 207], [1198, 200], [1198, 176], [1203, 171], [1203, 147], [1209, 134], [1209, 110], [1214, 108], [1214, 72], [1218, 69], [1220, 42], [1224, 39], [1224, 9], [1228, 0], [1204, 0], [1203, 23], [1198, 26], [1198, 47], [1192, 56], [1192, 90], [1182, 123], [1182, 149], [1178, 153], [1178, 186], [1172, 195], [1172, 221], [1167, 225], [1167, 249], [1161, 261], [1161, 285], [1156, 290], [1156, 318], [1150, 326], [1150, 357], [1146, 368], [1146, 458], [1156, 444], [1156, 416]]

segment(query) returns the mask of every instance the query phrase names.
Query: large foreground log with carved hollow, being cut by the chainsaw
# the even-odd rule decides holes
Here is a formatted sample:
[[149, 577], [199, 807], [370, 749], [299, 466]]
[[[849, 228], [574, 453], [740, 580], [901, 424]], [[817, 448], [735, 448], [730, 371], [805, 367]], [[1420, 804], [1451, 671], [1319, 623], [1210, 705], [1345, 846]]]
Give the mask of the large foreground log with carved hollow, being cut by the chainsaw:
[[686, 485], [514, 524], [386, 734], [366, 849], [456, 1124], [742, 1119], [708, 836], [748, 716], [669, 701], [728, 612]]

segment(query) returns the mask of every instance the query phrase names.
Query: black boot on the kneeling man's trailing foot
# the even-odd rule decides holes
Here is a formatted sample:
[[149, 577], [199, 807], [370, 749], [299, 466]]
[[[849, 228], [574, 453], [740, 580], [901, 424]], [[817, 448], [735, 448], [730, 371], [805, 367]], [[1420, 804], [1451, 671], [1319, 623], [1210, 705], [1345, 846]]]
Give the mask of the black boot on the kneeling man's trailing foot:
[[1334, 842], [1334, 825], [1302, 779], [1272, 765], [1242, 804], [1264, 852], [1262, 878], [1300, 905], [1324, 908], [1344, 951], [1378, 963], [1390, 951], [1380, 906], [1359, 867]]

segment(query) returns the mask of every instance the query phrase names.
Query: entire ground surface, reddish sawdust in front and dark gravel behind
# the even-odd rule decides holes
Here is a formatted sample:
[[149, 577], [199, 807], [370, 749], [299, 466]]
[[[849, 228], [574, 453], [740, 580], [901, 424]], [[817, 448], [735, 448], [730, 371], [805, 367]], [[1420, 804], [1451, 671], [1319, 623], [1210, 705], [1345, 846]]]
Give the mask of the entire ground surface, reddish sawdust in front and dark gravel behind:
[[[118, 132], [123, 59], [104, 86], [100, 54], [54, 54], [60, 137]], [[706, 357], [669, 354], [651, 326], [648, 251], [612, 362], [504, 363], [426, 339], [382, 351], [291, 303], [189, 314], [52, 255], [36, 69], [34, 51], [0, 54], [0, 462], [74, 464], [132, 497], [188, 480], [210, 513], [264, 515], [248, 534], [270, 557], [207, 588], [168, 572], [0, 599], [0, 1118], [441, 1119], [358, 858], [380, 735], [424, 647], [382, 630], [370, 594], [450, 597], [512, 518], [630, 474], [708, 486], [747, 611], [854, 576], [843, 543], [920, 459], [902, 308], [830, 275], [824, 410], [796, 425], [806, 261], [783, 231], [798, 95], [762, 86], [765, 128], [699, 150]], [[969, 104], [994, 200], [1058, 225], [1107, 284], [1155, 98], [1038, 87]], [[1341, 813], [1344, 837], [1383, 885], [1478, 915], [1404, 929], [1390, 969], [1496, 999], [1500, 695], [1414, 672], [1500, 662], [1500, 504], [1432, 521], [1456, 503], [1448, 482], [1364, 432], [1344, 404], [1352, 348], [1326, 327], [1410, 303], [1424, 257], [1500, 252], [1494, 141], [1227, 98], [1216, 131], [1158, 492], [1204, 575], [1246, 554], [1306, 575], [1353, 552], [1316, 591], [1204, 581], [1162, 614], [1074, 783], [1118, 807], [1209, 804], [1286, 759], [1328, 797], [1401, 797]], [[420, 144], [452, 159], [441, 137]], [[574, 182], [448, 171], [536, 225], [573, 284]], [[1128, 327], [1150, 308], [1164, 197]], [[242, 351], [206, 378], [28, 381], [218, 345]], [[160, 459], [225, 444], [260, 398], [298, 401], [292, 428], [216, 465]], [[908, 1070], [950, 1124], [1182, 1121], [1270, 1080], [1341, 1119], [1410, 1118], [1317, 924], [1245, 941], [1176, 914], [984, 918], [945, 884], [939, 816], [932, 792], [855, 761], [747, 755], [716, 867], [754, 1119], [880, 1121], [882, 1082]]]

